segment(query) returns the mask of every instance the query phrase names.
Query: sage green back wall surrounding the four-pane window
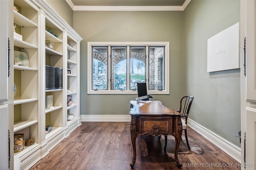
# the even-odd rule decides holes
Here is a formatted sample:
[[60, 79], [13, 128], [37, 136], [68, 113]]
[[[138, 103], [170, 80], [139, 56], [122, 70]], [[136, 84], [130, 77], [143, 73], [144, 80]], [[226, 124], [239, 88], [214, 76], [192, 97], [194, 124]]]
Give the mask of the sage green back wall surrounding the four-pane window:
[[83, 38], [81, 42], [81, 115], [129, 115], [130, 100], [136, 95], [87, 94], [88, 41], [169, 41], [170, 95], [152, 95], [165, 106], [179, 108], [185, 94], [183, 59], [183, 12], [99, 12], [74, 11], [74, 29]]

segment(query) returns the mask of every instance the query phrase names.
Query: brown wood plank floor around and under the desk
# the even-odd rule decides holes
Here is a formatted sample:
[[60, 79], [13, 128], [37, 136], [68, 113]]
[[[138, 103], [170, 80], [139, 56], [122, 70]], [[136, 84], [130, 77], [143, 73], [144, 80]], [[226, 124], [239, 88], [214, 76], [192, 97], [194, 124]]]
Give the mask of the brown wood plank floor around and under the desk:
[[[30, 170], [130, 170], [132, 144], [130, 122], [82, 122], [66, 139]], [[207, 139], [188, 128], [178, 158], [186, 170], [240, 170], [240, 164]], [[140, 136], [136, 139], [135, 170], [178, 170], [174, 162], [175, 139]]]

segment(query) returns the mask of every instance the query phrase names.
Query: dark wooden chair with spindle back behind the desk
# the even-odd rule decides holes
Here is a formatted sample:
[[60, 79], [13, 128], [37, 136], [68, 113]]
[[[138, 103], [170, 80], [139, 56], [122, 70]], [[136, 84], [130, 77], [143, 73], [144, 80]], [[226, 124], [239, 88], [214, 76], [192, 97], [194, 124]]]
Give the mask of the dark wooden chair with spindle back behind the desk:
[[[190, 150], [189, 144], [188, 144], [188, 135], [187, 135], [187, 120], [188, 120], [188, 113], [190, 111], [190, 107], [192, 105], [194, 97], [193, 96], [183, 96], [180, 99], [180, 109], [175, 110], [180, 112], [181, 115], [181, 121], [182, 121], [182, 130], [185, 132], [185, 138], [186, 138], [186, 143], [188, 145], [188, 149]], [[159, 139], [161, 136], [159, 137]], [[166, 145], [167, 145], [167, 136], [164, 136], [165, 139], [165, 145], [164, 145], [164, 150], [166, 150]]]

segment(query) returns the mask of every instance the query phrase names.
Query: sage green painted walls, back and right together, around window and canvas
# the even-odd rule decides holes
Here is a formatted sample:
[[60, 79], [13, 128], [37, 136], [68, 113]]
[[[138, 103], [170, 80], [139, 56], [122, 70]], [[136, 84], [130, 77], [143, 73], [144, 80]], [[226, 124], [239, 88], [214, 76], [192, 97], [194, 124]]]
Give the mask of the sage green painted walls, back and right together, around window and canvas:
[[81, 42], [81, 115], [129, 114], [136, 95], [87, 94], [88, 41], [170, 41], [170, 95], [153, 95], [179, 107], [195, 97], [190, 119], [240, 147], [240, 69], [207, 72], [207, 39], [240, 21], [238, 0], [192, 0], [184, 11], [74, 11]]

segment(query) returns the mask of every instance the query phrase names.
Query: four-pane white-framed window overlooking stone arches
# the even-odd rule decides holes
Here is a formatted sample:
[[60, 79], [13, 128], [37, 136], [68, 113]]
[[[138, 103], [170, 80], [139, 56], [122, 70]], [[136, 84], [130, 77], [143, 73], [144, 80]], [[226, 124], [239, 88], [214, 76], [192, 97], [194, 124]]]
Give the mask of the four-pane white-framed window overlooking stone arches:
[[88, 42], [88, 94], [169, 94], [169, 42]]

